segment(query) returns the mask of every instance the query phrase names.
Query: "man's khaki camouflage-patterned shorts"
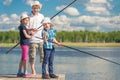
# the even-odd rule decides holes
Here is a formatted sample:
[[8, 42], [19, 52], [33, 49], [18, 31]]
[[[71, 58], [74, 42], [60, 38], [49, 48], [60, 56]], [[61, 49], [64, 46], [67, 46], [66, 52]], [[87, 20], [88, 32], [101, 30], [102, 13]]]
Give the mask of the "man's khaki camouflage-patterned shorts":
[[40, 62], [43, 62], [44, 53], [43, 53], [43, 42], [41, 43], [30, 43], [29, 46], [29, 62], [35, 63], [37, 49], [40, 54]]

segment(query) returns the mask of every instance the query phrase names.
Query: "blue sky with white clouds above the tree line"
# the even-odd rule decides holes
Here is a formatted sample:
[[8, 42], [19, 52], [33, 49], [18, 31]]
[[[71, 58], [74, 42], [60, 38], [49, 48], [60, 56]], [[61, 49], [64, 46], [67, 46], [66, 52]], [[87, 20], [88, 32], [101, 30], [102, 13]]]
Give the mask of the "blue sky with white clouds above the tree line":
[[[18, 30], [20, 15], [30, 13], [34, 0], [0, 0], [0, 31]], [[73, 0], [38, 0], [42, 4], [40, 13], [52, 17]], [[120, 0], [76, 0], [52, 22], [57, 31], [120, 30]]]

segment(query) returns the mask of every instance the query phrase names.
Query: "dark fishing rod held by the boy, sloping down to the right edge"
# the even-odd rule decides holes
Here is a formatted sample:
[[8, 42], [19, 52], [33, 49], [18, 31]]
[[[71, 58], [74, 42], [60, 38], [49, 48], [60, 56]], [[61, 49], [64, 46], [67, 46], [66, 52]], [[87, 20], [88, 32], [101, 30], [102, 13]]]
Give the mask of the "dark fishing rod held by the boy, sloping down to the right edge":
[[[36, 37], [36, 38], [39, 38], [39, 37]], [[39, 39], [43, 39], [43, 38], [39, 38]], [[48, 41], [48, 42], [51, 42], [51, 43], [57, 44], [56, 42], [53, 42], [53, 41], [51, 41], [51, 40], [47, 40], [47, 41]], [[81, 50], [79, 50], [79, 49], [76, 49], [76, 48], [73, 48], [73, 47], [70, 47], [70, 46], [67, 46], [67, 45], [64, 45], [64, 44], [62, 44], [61, 46], [66, 47], [66, 48], [69, 48], [69, 49], [72, 49], [72, 50], [75, 50], [75, 51], [78, 51], [78, 52], [82, 52], [82, 53], [84, 53], [84, 54], [88, 54], [88, 55], [90, 55], [90, 56], [99, 58], [99, 59], [101, 59], [101, 60], [104, 60], [104, 61], [107, 61], [107, 62], [116, 64], [116, 65], [120, 65], [120, 63], [117, 63], [117, 62], [115, 62], [115, 61], [112, 61], [112, 60], [109, 60], [109, 59], [106, 59], [106, 58], [103, 58], [103, 57], [94, 55], [94, 54], [89, 53], [89, 52], [81, 51]]]

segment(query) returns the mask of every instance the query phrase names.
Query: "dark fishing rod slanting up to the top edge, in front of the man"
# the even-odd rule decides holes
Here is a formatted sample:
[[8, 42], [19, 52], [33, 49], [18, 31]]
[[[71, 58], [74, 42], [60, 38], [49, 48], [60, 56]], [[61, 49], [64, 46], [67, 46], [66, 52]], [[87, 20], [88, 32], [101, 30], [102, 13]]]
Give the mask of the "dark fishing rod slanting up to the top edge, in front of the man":
[[[55, 15], [53, 15], [50, 19], [53, 19], [55, 16], [57, 16], [58, 14], [60, 14], [63, 10], [65, 10], [66, 8], [68, 8], [70, 5], [72, 5], [74, 2], [76, 2], [77, 0], [74, 0], [74, 1], [72, 1], [71, 3], [69, 3], [66, 7], [64, 7], [62, 10], [60, 10], [58, 13], [56, 13]], [[42, 27], [42, 25], [40, 26], [40, 27], [38, 27], [38, 29], [39, 28], [41, 28]], [[10, 51], [12, 51], [15, 47], [17, 47], [18, 45], [20, 44], [20, 42], [18, 42], [15, 46], [13, 46], [12, 48], [10, 48], [7, 52], [6, 52], [6, 54], [8, 54]]]

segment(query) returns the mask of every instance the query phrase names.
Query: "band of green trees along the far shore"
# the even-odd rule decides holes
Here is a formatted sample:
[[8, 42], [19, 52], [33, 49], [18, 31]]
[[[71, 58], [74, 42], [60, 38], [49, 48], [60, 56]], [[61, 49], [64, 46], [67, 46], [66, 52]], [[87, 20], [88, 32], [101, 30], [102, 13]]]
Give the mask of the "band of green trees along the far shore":
[[[56, 32], [57, 40], [61, 42], [120, 42], [120, 31], [94, 32], [94, 31], [60, 31]], [[18, 31], [1, 31], [0, 43], [19, 42]]]

